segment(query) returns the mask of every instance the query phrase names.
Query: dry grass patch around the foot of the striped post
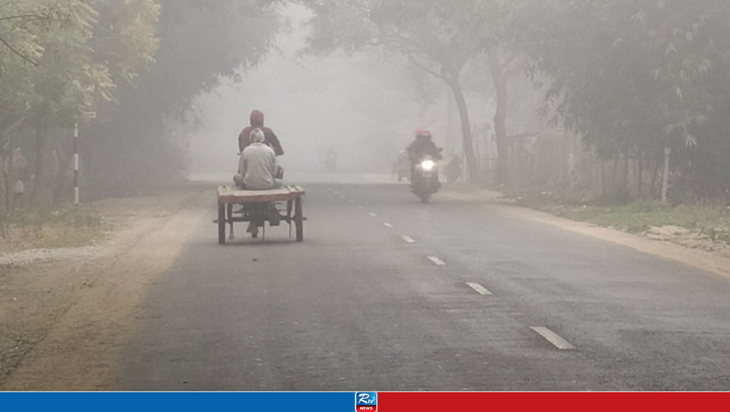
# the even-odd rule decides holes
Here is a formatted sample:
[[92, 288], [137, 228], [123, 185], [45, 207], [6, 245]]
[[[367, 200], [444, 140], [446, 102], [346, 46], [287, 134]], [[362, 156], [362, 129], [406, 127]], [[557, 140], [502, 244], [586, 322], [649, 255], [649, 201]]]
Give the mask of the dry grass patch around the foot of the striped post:
[[71, 248], [92, 245], [108, 225], [88, 210], [26, 210], [0, 216], [0, 251], [25, 248]]

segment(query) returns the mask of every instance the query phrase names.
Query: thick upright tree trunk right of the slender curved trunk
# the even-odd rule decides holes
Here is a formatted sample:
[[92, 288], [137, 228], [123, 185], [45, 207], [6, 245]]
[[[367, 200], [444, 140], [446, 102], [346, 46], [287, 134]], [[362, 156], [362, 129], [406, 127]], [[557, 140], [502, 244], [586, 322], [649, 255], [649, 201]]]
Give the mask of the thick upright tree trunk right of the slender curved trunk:
[[499, 61], [499, 53], [492, 47], [488, 53], [492, 82], [496, 93], [496, 110], [494, 112], [494, 136], [497, 145], [496, 183], [507, 183], [510, 178], [510, 142], [507, 141], [507, 76]]

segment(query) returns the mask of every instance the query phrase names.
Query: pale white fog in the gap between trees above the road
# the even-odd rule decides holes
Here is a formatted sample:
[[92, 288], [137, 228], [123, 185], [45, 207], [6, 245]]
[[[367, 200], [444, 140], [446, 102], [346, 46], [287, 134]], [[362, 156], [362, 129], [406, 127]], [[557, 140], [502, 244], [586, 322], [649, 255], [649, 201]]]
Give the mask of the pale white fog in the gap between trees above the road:
[[[278, 161], [288, 170], [325, 169], [322, 153], [331, 147], [339, 170], [389, 173], [416, 127], [431, 130], [440, 147], [461, 150], [458, 115], [445, 86], [417, 77], [397, 56], [303, 53], [310, 12], [291, 5], [283, 15], [288, 29], [264, 61], [198, 100], [203, 126], [191, 139], [191, 175], [234, 172], [237, 138], [254, 109], [264, 112], [264, 124], [282, 142], [285, 155]], [[417, 98], [423, 93], [427, 99]]]

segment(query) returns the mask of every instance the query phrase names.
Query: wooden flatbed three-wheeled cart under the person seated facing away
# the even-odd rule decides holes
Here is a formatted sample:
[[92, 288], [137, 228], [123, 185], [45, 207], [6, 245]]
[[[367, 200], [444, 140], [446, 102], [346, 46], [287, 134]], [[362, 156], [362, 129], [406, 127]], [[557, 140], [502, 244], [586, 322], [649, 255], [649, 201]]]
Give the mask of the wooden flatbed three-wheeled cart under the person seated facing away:
[[[234, 222], [253, 222], [264, 227], [265, 222], [277, 226], [280, 221], [296, 227], [296, 241], [304, 240], [304, 213], [301, 209], [304, 188], [301, 186], [283, 186], [271, 190], [244, 190], [231, 186], [218, 186], [218, 243], [226, 243], [226, 226], [230, 228], [229, 236], [233, 239]], [[278, 202], [286, 202], [286, 208], [277, 207]], [[234, 212], [234, 205], [242, 205], [241, 210]], [[272, 215], [276, 213], [276, 215]], [[252, 234], [255, 237], [255, 234]]]

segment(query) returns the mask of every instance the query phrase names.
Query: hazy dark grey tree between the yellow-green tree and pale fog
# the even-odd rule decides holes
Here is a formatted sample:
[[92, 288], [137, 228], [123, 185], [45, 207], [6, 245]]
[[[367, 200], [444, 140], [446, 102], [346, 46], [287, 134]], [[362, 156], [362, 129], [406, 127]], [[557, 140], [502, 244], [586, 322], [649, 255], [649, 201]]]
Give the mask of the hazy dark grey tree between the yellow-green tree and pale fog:
[[85, 178], [97, 194], [137, 191], [150, 177], [169, 180], [184, 172], [185, 147], [169, 125], [188, 122], [199, 94], [221, 77], [237, 78], [266, 54], [279, 28], [271, 3], [158, 1], [160, 42], [153, 64], [134, 75], [134, 83], [121, 81], [121, 70], [112, 71], [120, 78], [115, 101], [99, 104], [85, 131]]

